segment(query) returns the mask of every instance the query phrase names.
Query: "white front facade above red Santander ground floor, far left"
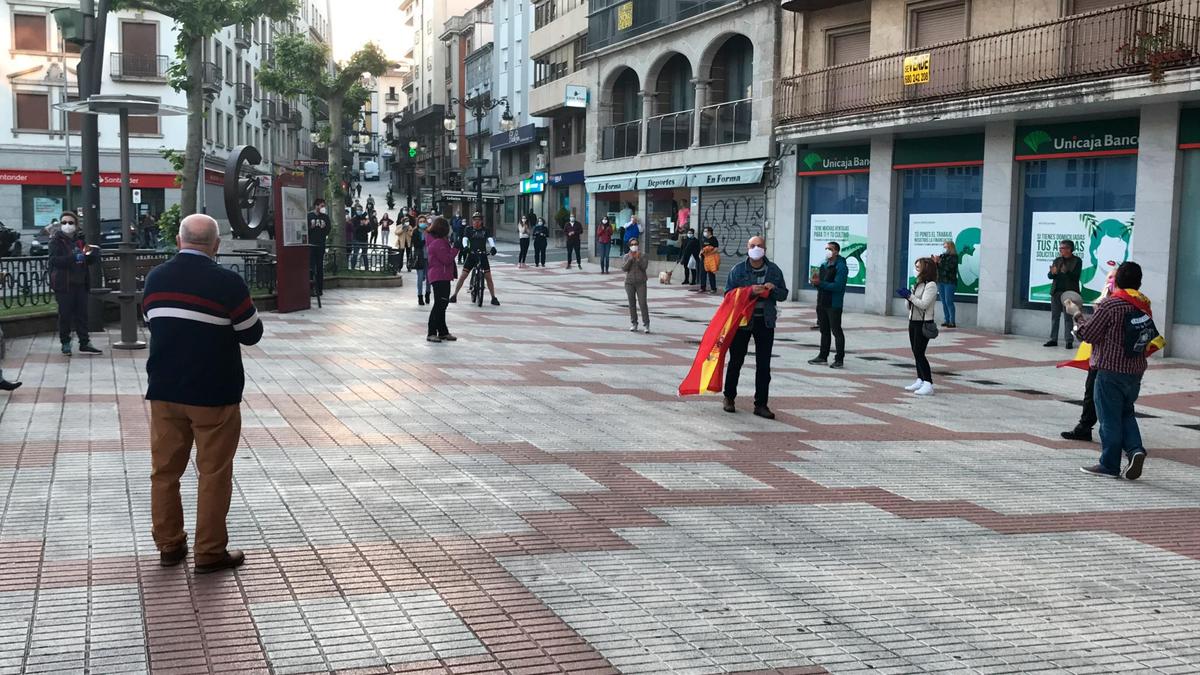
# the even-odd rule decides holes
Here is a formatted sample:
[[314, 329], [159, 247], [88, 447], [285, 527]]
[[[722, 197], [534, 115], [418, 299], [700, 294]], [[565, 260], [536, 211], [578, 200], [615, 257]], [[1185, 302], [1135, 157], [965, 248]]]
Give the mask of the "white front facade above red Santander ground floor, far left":
[[[64, 42], [50, 10], [65, 2], [0, 4], [0, 221], [22, 231], [28, 245], [32, 232], [82, 202], [82, 175], [74, 171], [70, 193], [64, 167], [78, 169], [79, 115], [67, 115], [55, 103], [78, 94], [79, 48]], [[167, 84], [168, 54], [174, 53], [173, 22], [151, 12], [120, 12], [108, 17], [108, 54], [103, 59], [103, 92], [157, 96], [163, 103], [186, 106], [182, 94]], [[186, 137], [186, 123], [174, 118], [130, 118], [130, 165], [133, 187], [140, 190], [140, 213], [162, 213], [179, 202], [175, 173], [160, 148]], [[119, 133], [115, 117], [100, 119], [101, 215], [120, 211]], [[181, 147], [181, 145], [180, 145]]]

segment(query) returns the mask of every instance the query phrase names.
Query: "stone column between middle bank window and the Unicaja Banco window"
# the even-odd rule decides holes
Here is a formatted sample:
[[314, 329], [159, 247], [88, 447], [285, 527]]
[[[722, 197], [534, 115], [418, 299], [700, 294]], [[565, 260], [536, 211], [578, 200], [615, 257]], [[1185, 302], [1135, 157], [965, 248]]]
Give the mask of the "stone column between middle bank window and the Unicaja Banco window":
[[979, 298], [976, 325], [1008, 333], [1016, 269], [1016, 162], [1013, 161], [1015, 124], [997, 121], [984, 130], [983, 216], [979, 233]]

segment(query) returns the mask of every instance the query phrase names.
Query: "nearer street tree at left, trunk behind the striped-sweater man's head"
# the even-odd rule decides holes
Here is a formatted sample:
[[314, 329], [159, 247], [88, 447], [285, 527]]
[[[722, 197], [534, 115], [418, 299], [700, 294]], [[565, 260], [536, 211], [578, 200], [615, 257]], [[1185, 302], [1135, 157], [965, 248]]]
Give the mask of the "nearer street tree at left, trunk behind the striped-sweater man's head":
[[[180, 205], [184, 215], [196, 213], [204, 150], [204, 41], [228, 25], [248, 25], [262, 18], [283, 20], [294, 16], [299, 0], [113, 0], [114, 10], [144, 10], [175, 19], [179, 38], [169, 78], [176, 91], [187, 94], [187, 147]], [[265, 36], [264, 36], [265, 40]]]

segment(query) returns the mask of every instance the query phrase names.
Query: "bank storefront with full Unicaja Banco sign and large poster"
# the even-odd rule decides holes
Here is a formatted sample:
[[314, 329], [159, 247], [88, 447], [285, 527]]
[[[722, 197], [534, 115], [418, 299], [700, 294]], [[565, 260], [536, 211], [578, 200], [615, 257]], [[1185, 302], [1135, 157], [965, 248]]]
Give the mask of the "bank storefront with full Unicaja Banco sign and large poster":
[[1084, 300], [1096, 301], [1111, 270], [1133, 256], [1138, 178], [1136, 118], [1018, 126], [1021, 227], [1018, 309], [1048, 309], [1048, 271], [1058, 243], [1084, 261]]

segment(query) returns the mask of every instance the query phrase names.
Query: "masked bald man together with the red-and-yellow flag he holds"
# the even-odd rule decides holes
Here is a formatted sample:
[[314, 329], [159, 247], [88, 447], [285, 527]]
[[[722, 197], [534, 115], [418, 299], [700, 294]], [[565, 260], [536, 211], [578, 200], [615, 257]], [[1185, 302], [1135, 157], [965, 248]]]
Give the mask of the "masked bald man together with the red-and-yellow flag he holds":
[[728, 352], [725, 372], [725, 412], [737, 412], [738, 380], [750, 339], [755, 350], [754, 413], [775, 419], [767, 407], [770, 390], [770, 351], [775, 342], [775, 303], [787, 299], [787, 283], [779, 265], [767, 259], [762, 237], [746, 243], [746, 259], [738, 263], [725, 282], [725, 300], [704, 331], [696, 360], [679, 384], [679, 395], [721, 390], [721, 365]]

